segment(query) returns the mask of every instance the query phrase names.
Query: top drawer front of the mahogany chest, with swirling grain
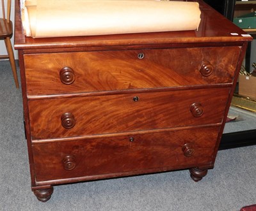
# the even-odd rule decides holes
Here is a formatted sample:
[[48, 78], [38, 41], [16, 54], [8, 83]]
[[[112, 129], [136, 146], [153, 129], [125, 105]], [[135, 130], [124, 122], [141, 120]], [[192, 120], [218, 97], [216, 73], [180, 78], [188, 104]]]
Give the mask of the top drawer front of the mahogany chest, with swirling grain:
[[240, 47], [24, 55], [28, 96], [231, 83]]

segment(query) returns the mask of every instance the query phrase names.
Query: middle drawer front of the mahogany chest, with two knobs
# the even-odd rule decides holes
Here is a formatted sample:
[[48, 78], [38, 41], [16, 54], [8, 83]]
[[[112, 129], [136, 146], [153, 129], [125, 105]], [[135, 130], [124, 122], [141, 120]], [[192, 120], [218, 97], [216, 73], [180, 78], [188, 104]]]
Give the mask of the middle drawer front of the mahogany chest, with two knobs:
[[[33, 140], [221, 122], [229, 88], [29, 101]], [[218, 93], [218, 94], [216, 94]]]

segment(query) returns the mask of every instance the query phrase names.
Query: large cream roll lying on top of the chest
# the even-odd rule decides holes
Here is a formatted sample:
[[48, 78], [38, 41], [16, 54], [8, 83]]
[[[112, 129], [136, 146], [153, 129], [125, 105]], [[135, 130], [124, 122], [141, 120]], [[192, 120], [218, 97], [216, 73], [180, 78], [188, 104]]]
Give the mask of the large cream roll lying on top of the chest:
[[154, 0], [29, 0], [25, 7], [33, 38], [195, 30], [201, 13], [196, 2]]

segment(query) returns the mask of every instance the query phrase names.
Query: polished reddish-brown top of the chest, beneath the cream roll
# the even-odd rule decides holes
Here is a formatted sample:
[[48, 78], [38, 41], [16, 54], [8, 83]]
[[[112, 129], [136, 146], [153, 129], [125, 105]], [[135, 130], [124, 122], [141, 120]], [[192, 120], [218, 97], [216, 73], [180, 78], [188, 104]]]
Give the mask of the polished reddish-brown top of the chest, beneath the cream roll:
[[[193, 0], [190, 0], [193, 1]], [[197, 31], [174, 31], [163, 33], [114, 34], [102, 36], [77, 36], [64, 38], [28, 38], [22, 33], [19, 1], [15, 1], [15, 48], [18, 50], [49, 48], [108, 48], [125, 49], [131, 46], [156, 47], [159, 45], [198, 45], [210, 43], [239, 43], [252, 40], [251, 36], [232, 24], [227, 18], [213, 10], [202, 0], [198, 0], [201, 10], [201, 22]]]

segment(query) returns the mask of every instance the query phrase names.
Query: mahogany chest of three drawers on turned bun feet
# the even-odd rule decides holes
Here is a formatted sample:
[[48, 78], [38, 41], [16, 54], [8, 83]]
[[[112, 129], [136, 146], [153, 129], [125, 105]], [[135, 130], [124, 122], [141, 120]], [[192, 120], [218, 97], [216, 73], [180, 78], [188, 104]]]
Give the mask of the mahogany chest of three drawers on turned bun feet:
[[57, 184], [178, 169], [197, 182], [213, 168], [252, 38], [199, 3], [198, 31], [40, 39], [22, 34], [16, 5], [38, 200]]

